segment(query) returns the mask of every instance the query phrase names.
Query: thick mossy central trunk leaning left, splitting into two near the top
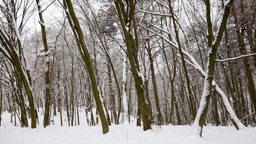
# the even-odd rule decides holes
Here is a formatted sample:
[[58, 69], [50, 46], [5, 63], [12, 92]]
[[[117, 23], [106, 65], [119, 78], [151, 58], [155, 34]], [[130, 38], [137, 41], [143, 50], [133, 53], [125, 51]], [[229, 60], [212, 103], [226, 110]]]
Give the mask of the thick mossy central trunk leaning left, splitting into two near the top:
[[[143, 81], [142, 74], [139, 70], [139, 62], [138, 62], [138, 35], [137, 28], [135, 25], [134, 11], [135, 11], [135, 3], [133, 1], [129, 2], [129, 11], [126, 11], [124, 6], [124, 1], [117, 0], [115, 1], [115, 7], [118, 13], [118, 17], [121, 23], [122, 30], [124, 32], [124, 39], [126, 43], [128, 59], [130, 61], [132, 75], [134, 77], [135, 89], [138, 97], [138, 103], [141, 109], [142, 121], [143, 121], [143, 129], [144, 131], [151, 129], [150, 126], [150, 118], [148, 115], [148, 105], [146, 103], [146, 98], [143, 89]], [[132, 29], [134, 29], [134, 35], [132, 35]], [[133, 38], [135, 36], [135, 39]]]

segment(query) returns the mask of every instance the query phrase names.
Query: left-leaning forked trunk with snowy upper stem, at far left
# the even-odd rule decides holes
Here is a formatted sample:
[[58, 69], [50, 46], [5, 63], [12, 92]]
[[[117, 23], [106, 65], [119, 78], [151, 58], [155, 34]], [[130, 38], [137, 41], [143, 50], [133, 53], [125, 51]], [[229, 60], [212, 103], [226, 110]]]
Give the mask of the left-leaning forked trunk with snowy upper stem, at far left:
[[[22, 81], [23, 86], [25, 88], [27, 98], [29, 100], [29, 112], [31, 116], [31, 128], [36, 128], [36, 111], [34, 109], [34, 98], [32, 95], [31, 90], [31, 83], [29, 81], [30, 75], [29, 75], [29, 67], [27, 67], [27, 59], [26, 54], [24, 52], [23, 46], [22, 46], [22, 39], [20, 36], [20, 31], [18, 29], [17, 23], [16, 23], [16, 17], [14, 17], [13, 10], [11, 7], [15, 7], [13, 2], [5, 3], [7, 7], [7, 11], [10, 14], [9, 18], [11, 19], [12, 24], [10, 25], [10, 28], [15, 32], [17, 41], [13, 41], [13, 38], [10, 37], [10, 35], [6, 35], [6, 30], [4, 30], [2, 27], [0, 27], [0, 52], [3, 53], [7, 59], [9, 59], [12, 63], [12, 65], [15, 67], [16, 72], [18, 72], [18, 75], [20, 75], [20, 81]], [[11, 5], [10, 5], [11, 4]], [[16, 46], [13, 44], [17, 44], [20, 49], [20, 54], [18, 53], [18, 50], [16, 49]], [[24, 67], [22, 65], [22, 59], [20, 59], [20, 55], [23, 55], [23, 59], [25, 61], [26, 70], [24, 70]]]

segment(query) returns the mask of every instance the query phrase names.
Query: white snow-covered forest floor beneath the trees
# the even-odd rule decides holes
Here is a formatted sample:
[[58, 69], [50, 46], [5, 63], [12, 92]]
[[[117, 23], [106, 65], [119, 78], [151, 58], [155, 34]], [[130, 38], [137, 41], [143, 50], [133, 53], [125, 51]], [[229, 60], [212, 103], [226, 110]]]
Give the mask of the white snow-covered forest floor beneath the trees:
[[43, 115], [38, 112], [39, 124], [31, 129], [15, 127], [10, 122], [10, 114], [4, 112], [0, 144], [256, 144], [254, 127], [237, 131], [235, 127], [206, 126], [200, 138], [190, 135], [191, 126], [153, 126], [152, 130], [143, 131], [132, 122], [112, 124], [109, 132], [102, 134], [101, 126], [88, 126], [85, 112], [79, 113], [80, 125], [74, 127], [68, 127], [64, 114], [63, 127], [57, 115], [55, 124], [44, 128]]

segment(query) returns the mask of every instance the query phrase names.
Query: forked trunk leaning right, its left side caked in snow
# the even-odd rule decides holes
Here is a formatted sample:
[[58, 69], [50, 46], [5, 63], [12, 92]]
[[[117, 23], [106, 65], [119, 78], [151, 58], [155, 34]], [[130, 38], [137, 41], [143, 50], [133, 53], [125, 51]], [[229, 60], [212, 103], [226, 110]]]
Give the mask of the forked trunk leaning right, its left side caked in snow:
[[215, 59], [216, 53], [218, 50], [218, 46], [220, 45], [220, 41], [222, 39], [223, 32], [226, 28], [227, 19], [229, 17], [230, 6], [234, 0], [228, 0], [224, 3], [224, 9], [222, 11], [222, 17], [220, 19], [220, 25], [218, 26], [217, 35], [213, 40], [213, 30], [211, 24], [211, 14], [210, 14], [210, 1], [206, 0], [206, 15], [207, 15], [207, 24], [208, 24], [208, 58], [207, 58], [207, 67], [204, 78], [204, 90], [202, 93], [202, 98], [200, 101], [199, 109], [195, 117], [195, 121], [192, 127], [191, 134], [200, 135], [202, 137], [202, 128], [205, 124], [205, 117], [207, 114], [208, 104], [211, 97], [211, 89], [213, 88], [213, 75], [214, 75], [214, 67], [215, 67]]

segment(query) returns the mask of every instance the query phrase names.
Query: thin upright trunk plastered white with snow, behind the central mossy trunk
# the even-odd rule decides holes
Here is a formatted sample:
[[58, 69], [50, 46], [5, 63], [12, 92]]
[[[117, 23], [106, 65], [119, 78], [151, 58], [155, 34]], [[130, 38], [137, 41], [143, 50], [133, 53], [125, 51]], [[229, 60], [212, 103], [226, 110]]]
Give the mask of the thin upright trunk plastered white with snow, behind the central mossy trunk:
[[126, 53], [123, 55], [123, 85], [122, 85], [122, 90], [123, 90], [123, 107], [124, 107], [124, 122], [128, 122], [128, 105], [127, 105], [127, 73], [126, 73], [126, 65], [127, 65], [127, 56]]

